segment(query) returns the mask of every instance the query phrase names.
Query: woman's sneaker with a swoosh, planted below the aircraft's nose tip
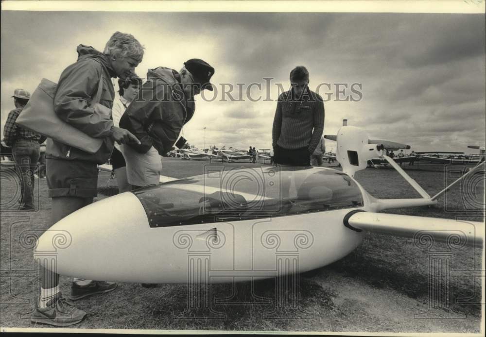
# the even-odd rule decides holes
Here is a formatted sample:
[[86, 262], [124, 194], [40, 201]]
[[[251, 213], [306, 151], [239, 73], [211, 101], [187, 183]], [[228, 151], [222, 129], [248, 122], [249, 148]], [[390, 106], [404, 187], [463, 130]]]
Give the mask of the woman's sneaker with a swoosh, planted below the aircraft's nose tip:
[[47, 303], [46, 308], [35, 308], [31, 317], [32, 323], [42, 323], [55, 326], [69, 326], [77, 324], [86, 316], [86, 312], [62, 298], [59, 292], [55, 298]]

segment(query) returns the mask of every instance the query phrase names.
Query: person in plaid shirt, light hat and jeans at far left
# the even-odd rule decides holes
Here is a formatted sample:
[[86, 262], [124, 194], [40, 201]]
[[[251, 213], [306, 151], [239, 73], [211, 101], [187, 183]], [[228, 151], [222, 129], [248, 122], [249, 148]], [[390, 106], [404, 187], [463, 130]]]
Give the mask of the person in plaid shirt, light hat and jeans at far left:
[[20, 204], [21, 210], [34, 209], [34, 172], [40, 156], [40, 143], [46, 137], [36, 134], [17, 125], [15, 121], [30, 99], [30, 93], [24, 89], [14, 90], [15, 109], [10, 111], [3, 129], [4, 142], [12, 148], [15, 166], [21, 177]]

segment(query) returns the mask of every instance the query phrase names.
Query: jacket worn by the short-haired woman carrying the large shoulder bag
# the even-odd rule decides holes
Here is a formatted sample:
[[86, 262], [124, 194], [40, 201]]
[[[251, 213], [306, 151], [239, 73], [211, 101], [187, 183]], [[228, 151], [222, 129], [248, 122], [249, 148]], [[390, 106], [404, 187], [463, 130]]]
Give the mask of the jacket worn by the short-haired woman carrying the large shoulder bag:
[[65, 122], [95, 138], [104, 138], [96, 153], [88, 153], [51, 138], [47, 141], [46, 158], [67, 160], [86, 160], [103, 164], [113, 151], [114, 141], [110, 135], [113, 120], [96, 116], [89, 107], [96, 97], [98, 84], [103, 74], [103, 93], [100, 103], [107, 108], [113, 107], [115, 89], [110, 78], [116, 77], [108, 56], [93, 47], [79, 45], [78, 60], [61, 74], [54, 97], [54, 111]]

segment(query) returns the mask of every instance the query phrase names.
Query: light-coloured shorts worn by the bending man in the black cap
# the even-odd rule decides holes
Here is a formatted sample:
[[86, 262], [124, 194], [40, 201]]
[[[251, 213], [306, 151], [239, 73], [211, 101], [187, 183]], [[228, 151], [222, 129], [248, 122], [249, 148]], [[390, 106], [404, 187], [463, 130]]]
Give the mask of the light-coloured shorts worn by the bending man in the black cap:
[[128, 184], [136, 186], [158, 185], [162, 170], [162, 157], [154, 147], [140, 153], [128, 145], [121, 147], [126, 162]]

